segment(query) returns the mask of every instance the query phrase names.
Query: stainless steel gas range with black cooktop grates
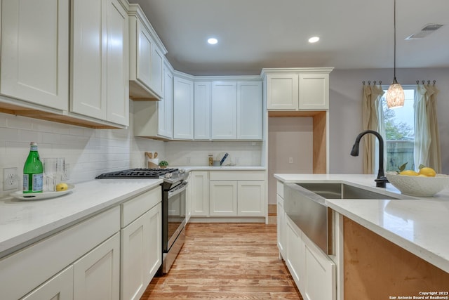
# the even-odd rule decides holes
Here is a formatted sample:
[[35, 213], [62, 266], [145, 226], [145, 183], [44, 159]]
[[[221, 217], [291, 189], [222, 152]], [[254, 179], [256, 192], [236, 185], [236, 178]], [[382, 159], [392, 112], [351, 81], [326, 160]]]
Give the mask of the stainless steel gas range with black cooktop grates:
[[168, 273], [185, 241], [186, 188], [184, 169], [128, 169], [97, 176], [98, 179], [161, 178], [162, 183], [162, 266]]

